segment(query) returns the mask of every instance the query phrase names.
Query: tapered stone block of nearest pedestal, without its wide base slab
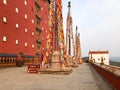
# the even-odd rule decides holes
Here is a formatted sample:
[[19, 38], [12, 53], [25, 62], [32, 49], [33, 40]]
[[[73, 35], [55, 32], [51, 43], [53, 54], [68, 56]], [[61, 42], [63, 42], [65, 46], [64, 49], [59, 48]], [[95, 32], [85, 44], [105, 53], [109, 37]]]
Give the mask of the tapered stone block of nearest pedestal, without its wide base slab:
[[51, 60], [51, 71], [62, 71], [61, 57], [59, 51], [54, 51]]

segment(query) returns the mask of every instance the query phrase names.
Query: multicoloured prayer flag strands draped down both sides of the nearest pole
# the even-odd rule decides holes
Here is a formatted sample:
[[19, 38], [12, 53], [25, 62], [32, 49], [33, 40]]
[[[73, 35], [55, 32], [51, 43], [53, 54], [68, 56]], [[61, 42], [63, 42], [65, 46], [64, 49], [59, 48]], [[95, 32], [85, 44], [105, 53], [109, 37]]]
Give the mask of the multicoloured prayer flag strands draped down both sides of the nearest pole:
[[[62, 17], [62, 0], [56, 0], [57, 14], [57, 29], [58, 29], [58, 50], [61, 54], [62, 61], [64, 60], [64, 33], [63, 33], [63, 17]], [[55, 2], [51, 0], [49, 10], [49, 31], [47, 35], [46, 54], [43, 58], [43, 63], [49, 62], [49, 56], [52, 54], [55, 47]]]

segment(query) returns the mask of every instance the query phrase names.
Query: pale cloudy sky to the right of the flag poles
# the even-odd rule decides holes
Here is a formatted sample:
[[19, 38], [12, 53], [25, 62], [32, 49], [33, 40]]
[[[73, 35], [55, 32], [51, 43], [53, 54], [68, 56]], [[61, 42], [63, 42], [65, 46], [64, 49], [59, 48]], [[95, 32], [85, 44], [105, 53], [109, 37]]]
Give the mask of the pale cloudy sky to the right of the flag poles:
[[78, 26], [82, 56], [89, 50], [109, 50], [120, 57], [120, 0], [62, 0], [64, 30], [71, 2], [73, 29]]

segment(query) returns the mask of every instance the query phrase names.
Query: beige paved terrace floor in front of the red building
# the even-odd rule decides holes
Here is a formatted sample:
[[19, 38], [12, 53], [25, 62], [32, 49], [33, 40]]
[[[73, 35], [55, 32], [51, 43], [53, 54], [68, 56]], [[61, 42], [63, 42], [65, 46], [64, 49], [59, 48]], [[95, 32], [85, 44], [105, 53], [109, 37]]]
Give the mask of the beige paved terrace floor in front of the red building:
[[29, 74], [27, 67], [0, 69], [0, 90], [112, 90], [88, 64], [70, 75]]

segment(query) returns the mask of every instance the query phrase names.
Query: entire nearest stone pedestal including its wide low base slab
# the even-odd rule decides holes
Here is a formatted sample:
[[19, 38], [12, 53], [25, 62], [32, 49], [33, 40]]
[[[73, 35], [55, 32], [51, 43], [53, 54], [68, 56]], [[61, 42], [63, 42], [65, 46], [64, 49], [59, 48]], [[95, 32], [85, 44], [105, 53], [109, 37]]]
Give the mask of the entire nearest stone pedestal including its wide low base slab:
[[71, 67], [66, 67], [65, 70], [62, 69], [61, 55], [59, 51], [54, 51], [52, 54], [52, 60], [50, 63], [50, 68], [45, 70], [39, 70], [40, 74], [58, 74], [58, 75], [68, 75], [72, 72]]

